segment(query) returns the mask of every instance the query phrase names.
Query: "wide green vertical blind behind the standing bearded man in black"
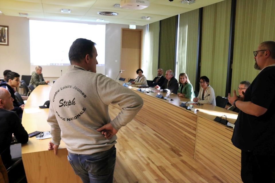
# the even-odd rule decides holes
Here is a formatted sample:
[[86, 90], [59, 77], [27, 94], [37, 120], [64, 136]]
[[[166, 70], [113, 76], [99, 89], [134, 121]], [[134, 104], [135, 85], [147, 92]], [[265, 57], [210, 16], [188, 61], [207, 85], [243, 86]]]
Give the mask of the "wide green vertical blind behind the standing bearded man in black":
[[238, 93], [240, 81], [252, 82], [258, 75], [253, 51], [261, 42], [275, 40], [274, 10], [274, 0], [237, 1], [231, 93], [233, 89]]

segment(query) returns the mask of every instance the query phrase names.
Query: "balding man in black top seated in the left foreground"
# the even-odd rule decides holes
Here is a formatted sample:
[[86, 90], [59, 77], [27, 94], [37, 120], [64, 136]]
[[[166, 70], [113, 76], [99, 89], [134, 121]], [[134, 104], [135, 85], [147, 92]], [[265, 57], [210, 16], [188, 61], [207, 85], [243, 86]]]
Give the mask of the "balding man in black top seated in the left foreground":
[[12, 134], [20, 143], [27, 143], [28, 133], [13, 109], [13, 98], [7, 89], [0, 87], [0, 154], [3, 164], [7, 167], [11, 162], [10, 145]]

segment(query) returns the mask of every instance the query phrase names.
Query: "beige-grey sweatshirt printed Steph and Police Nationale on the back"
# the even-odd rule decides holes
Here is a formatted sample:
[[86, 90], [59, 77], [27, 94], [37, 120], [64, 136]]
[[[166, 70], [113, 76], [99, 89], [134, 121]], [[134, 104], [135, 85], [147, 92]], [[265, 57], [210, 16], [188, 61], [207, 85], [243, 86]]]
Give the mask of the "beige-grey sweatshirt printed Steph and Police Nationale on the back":
[[[106, 139], [96, 129], [111, 123], [119, 130], [142, 108], [142, 98], [130, 89], [102, 74], [70, 65], [68, 72], [57, 79], [50, 91], [48, 123], [52, 143], [62, 139], [69, 152], [93, 154], [110, 149], [116, 136]], [[121, 112], [113, 120], [109, 104], [119, 104]]]

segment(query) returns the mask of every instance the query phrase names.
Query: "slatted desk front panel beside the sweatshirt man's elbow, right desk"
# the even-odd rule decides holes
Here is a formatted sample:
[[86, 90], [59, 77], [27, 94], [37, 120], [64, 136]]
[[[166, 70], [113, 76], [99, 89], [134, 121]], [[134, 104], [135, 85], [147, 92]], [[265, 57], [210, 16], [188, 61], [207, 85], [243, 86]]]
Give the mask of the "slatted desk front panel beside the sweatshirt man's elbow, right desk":
[[197, 115], [170, 104], [170, 101], [135, 92], [144, 101], [135, 120], [146, 124], [175, 147], [194, 157]]

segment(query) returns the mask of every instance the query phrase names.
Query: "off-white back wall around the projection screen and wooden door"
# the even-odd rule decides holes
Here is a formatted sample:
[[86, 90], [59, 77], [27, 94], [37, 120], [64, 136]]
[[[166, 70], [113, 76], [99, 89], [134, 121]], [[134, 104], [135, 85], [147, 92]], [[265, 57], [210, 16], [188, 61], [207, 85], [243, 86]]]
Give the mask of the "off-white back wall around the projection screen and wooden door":
[[[9, 26], [9, 46], [0, 45], [0, 78], [6, 69], [20, 75], [30, 75], [35, 66], [30, 65], [29, 19], [2, 14], [0, 25]], [[137, 29], [144, 27], [137, 26]], [[106, 25], [105, 68], [97, 67], [97, 73], [108, 75], [112, 79], [117, 77], [120, 70], [121, 28], [129, 28], [129, 25], [114, 23]], [[42, 66], [42, 68], [44, 78], [51, 82], [61, 76], [61, 70], [62, 75], [67, 71], [66, 66]]]

